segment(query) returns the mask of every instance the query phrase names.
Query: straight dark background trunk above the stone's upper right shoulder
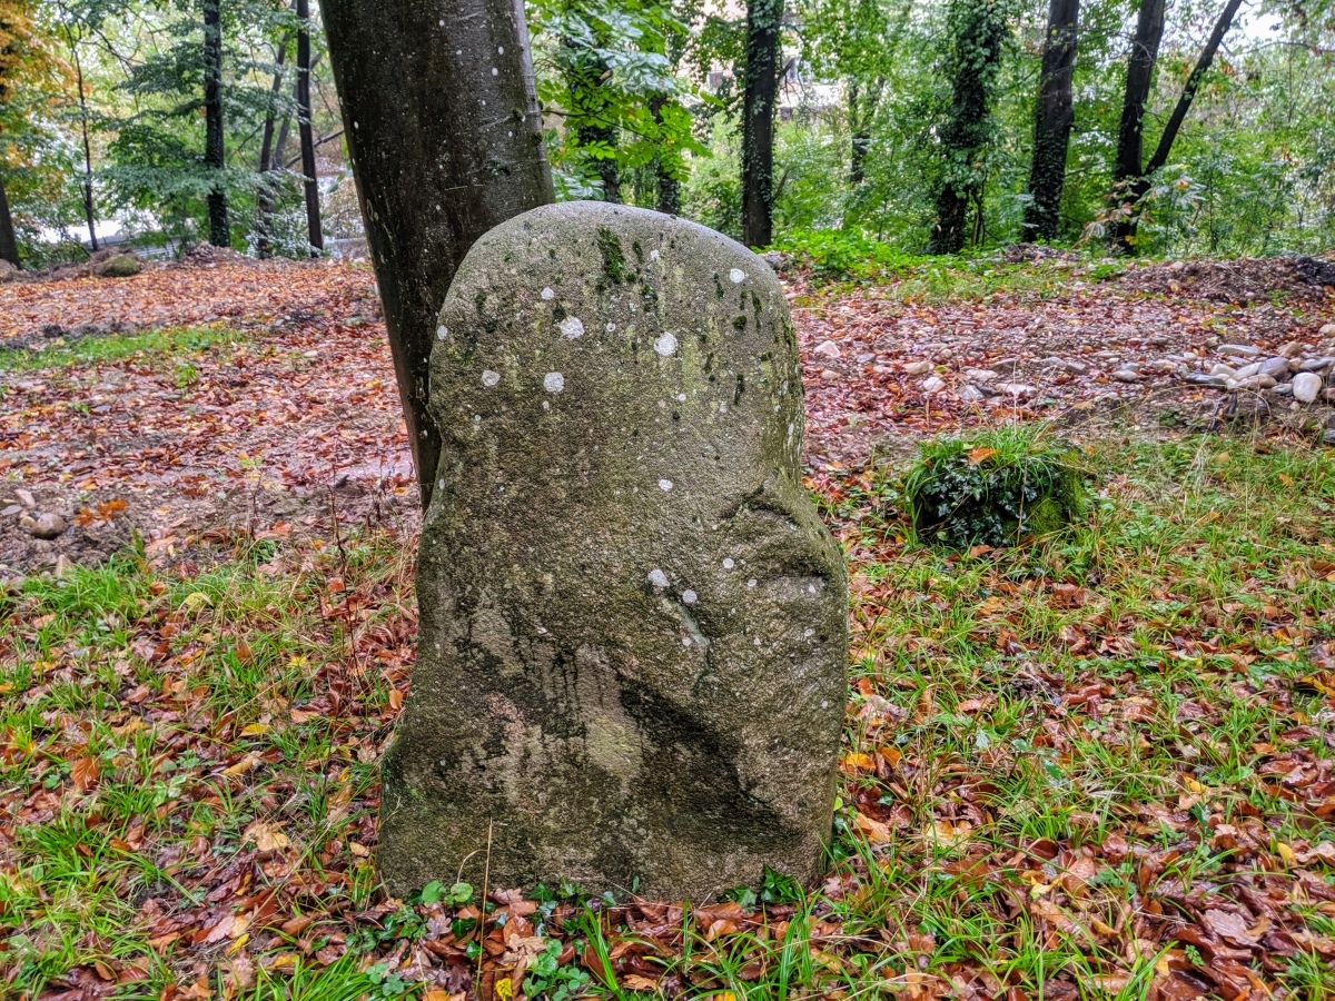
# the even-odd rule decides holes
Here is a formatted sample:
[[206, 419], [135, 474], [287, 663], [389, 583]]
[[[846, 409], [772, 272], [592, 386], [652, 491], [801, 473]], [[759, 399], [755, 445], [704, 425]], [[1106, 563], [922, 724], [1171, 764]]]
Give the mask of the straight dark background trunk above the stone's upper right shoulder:
[[742, 243], [774, 242], [774, 105], [784, 0], [748, 0], [742, 96]]

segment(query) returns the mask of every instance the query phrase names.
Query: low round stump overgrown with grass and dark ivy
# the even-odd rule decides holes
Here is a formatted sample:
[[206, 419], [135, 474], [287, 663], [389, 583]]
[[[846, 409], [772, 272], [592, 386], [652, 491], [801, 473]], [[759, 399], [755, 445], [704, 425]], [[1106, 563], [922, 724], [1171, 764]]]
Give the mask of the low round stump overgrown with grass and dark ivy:
[[929, 442], [904, 484], [918, 538], [952, 549], [1059, 533], [1081, 515], [1085, 494], [1075, 450], [1041, 426]]

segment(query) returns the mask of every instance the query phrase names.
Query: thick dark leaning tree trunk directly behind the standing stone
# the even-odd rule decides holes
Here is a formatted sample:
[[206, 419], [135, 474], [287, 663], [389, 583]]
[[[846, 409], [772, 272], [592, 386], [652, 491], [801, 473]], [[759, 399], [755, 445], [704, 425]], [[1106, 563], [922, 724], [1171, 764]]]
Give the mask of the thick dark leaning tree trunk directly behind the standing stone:
[[487, 230], [553, 200], [522, 0], [323, 0], [343, 124], [429, 503], [437, 314]]

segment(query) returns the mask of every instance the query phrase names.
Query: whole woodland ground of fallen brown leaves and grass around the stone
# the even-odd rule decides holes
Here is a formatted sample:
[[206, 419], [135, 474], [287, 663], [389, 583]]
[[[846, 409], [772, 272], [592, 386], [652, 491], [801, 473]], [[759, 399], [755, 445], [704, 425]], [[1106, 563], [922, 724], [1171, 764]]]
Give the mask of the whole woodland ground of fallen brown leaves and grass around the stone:
[[[1239, 427], [1167, 360], [1316, 343], [1335, 298], [1286, 262], [789, 284], [853, 582], [832, 874], [685, 910], [376, 888], [417, 492], [368, 270], [0, 286], [0, 994], [1335, 994], [1328, 412]], [[1085, 447], [1089, 523], [909, 545], [909, 447], [1015, 419]]]

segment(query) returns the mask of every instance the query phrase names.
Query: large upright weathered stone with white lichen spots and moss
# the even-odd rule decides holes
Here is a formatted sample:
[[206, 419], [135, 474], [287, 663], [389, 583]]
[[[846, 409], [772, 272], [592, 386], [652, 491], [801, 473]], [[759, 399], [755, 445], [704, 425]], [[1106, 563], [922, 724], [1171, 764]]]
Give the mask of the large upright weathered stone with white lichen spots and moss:
[[489, 870], [704, 901], [766, 865], [812, 884], [848, 586], [801, 486], [769, 267], [657, 212], [547, 206], [473, 247], [437, 338], [390, 888]]

